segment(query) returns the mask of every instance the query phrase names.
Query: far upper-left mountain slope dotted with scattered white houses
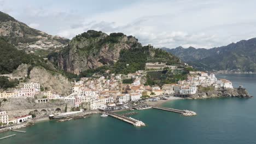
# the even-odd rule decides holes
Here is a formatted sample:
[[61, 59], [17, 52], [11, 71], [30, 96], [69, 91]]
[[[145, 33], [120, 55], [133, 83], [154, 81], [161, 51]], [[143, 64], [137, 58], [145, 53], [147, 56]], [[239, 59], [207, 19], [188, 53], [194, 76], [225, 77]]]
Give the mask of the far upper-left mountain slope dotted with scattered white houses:
[[[37, 29], [28, 27], [25, 23], [15, 20], [0, 11], [0, 37], [26, 52], [54, 51], [66, 46], [69, 39], [52, 36]], [[40, 53], [39, 53], [40, 54]]]

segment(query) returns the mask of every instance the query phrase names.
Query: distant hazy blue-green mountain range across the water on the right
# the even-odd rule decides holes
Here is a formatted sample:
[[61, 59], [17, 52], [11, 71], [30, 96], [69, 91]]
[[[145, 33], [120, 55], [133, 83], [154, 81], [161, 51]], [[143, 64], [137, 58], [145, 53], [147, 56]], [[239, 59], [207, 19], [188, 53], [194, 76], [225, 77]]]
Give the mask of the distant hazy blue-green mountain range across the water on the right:
[[256, 72], [256, 38], [212, 49], [184, 49], [179, 46], [176, 49], [163, 47], [162, 50], [176, 55], [197, 69]]

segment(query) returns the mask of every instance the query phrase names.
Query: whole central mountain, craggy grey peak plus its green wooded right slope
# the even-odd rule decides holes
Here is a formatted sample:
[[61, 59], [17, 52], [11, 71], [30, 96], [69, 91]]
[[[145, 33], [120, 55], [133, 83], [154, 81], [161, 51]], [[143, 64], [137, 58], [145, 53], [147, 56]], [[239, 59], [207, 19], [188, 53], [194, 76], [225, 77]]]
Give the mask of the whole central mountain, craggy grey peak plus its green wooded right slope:
[[48, 59], [73, 74], [103, 66], [114, 73], [127, 74], [144, 69], [146, 62], [179, 63], [179, 58], [150, 45], [142, 46], [135, 37], [93, 30], [77, 35], [68, 46], [51, 53]]

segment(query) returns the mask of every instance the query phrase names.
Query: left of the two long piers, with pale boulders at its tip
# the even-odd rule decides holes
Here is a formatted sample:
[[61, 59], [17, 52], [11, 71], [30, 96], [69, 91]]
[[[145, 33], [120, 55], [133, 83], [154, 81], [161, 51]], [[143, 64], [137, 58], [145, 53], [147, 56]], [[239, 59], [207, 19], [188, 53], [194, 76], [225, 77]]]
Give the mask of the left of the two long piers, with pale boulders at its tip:
[[112, 116], [114, 118], [120, 119], [121, 121], [135, 125], [136, 127], [145, 126], [145, 124], [142, 121], [138, 121], [137, 119], [134, 119], [131, 117], [126, 117], [123, 115], [118, 115], [117, 113], [113, 113], [113, 112], [109, 112], [109, 111], [107, 113], [109, 116]]

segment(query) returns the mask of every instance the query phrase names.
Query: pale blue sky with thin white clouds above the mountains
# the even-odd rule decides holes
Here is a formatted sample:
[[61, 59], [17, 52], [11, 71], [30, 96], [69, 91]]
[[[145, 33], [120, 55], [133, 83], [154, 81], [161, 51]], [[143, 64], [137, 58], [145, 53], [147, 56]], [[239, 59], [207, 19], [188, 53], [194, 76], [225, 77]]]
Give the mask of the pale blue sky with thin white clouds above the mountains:
[[256, 37], [255, 0], [0, 0], [0, 11], [32, 28], [72, 39], [94, 29], [143, 45], [218, 47]]

